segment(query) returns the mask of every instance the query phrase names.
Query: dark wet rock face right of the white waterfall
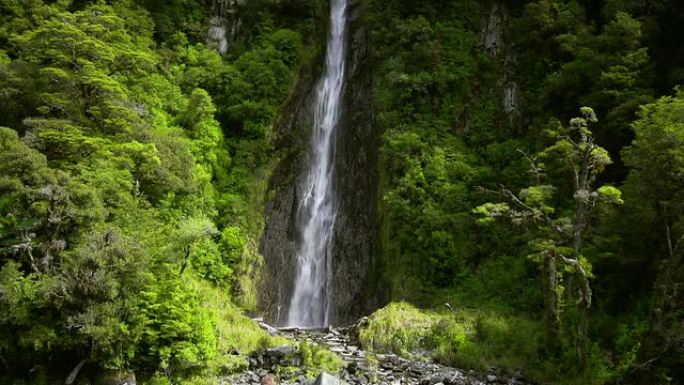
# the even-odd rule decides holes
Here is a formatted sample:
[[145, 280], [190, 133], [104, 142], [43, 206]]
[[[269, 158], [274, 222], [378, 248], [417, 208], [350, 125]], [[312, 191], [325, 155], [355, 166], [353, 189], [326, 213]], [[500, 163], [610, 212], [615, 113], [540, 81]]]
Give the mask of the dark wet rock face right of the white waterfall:
[[372, 108], [368, 33], [360, 1], [349, 2], [349, 49], [344, 113], [337, 130], [339, 212], [333, 236], [331, 320], [349, 324], [373, 310], [377, 251], [379, 132]]

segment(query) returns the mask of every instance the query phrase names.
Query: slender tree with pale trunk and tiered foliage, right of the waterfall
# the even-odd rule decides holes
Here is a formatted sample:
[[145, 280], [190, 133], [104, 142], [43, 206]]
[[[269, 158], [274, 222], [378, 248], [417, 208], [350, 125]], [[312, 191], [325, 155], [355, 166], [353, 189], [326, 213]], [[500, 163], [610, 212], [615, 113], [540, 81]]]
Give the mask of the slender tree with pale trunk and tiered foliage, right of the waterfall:
[[[576, 358], [580, 372], [587, 369], [589, 309], [592, 303], [590, 280], [593, 278], [591, 264], [582, 254], [591, 219], [601, 203], [622, 203], [621, 192], [612, 186], [595, 186], [597, 177], [611, 163], [608, 152], [594, 141], [590, 123], [597, 122], [596, 114], [589, 107], [580, 110], [581, 116], [573, 118], [569, 127], [560, 124], [547, 133], [554, 143], [534, 156], [520, 151], [530, 164], [534, 184], [519, 193], [505, 186], [495, 191], [504, 202], [490, 202], [473, 210], [481, 223], [497, 218], [515, 224], [533, 227], [535, 237], [530, 246], [537, 253], [541, 264], [544, 285], [544, 305], [547, 333], [551, 350], [560, 345], [562, 306], [564, 300], [574, 303], [578, 320], [576, 326]], [[548, 161], [549, 166], [543, 163]], [[567, 175], [572, 186], [572, 202], [566, 206], [554, 206], [556, 186], [545, 184], [547, 171]], [[556, 200], [557, 201], [557, 200]], [[567, 276], [564, 277], [564, 276]], [[562, 282], [568, 282], [563, 287]], [[567, 290], [570, 289], [571, 290]]]

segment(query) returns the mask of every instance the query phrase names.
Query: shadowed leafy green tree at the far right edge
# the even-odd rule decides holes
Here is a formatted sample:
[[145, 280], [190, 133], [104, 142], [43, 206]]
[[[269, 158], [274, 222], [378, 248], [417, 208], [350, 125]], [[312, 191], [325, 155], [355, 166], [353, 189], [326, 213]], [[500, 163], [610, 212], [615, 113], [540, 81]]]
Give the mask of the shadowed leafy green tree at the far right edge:
[[[684, 98], [680, 89], [653, 104], [643, 106], [632, 128], [636, 138], [624, 151], [625, 160], [633, 167], [625, 182], [625, 223], [630, 227], [624, 239], [625, 264], [635, 265], [638, 274], [655, 272], [652, 307], [648, 331], [638, 352], [626, 352], [632, 361], [630, 370], [643, 381], [667, 382], [681, 368], [682, 355], [673, 350], [682, 342], [681, 319], [684, 298], [678, 287], [684, 279], [681, 264], [684, 221], [682, 195], [682, 139], [684, 139]], [[656, 229], [645, 231], [644, 229]], [[652, 243], [645, 248], [635, 238], [638, 232], [650, 234]], [[639, 258], [641, 256], [641, 258]], [[652, 273], [653, 274], [653, 273]], [[621, 341], [624, 343], [625, 341]], [[639, 371], [649, 357], [662, 359]], [[629, 361], [627, 361], [629, 362]], [[634, 369], [637, 368], [637, 369]]]

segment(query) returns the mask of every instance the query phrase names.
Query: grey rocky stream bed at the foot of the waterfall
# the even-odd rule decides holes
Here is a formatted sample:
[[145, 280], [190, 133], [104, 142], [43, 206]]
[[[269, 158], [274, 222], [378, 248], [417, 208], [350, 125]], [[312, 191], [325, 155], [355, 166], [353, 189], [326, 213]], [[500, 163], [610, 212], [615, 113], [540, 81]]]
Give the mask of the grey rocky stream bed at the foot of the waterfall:
[[[460, 370], [425, 359], [408, 360], [394, 354], [371, 354], [359, 347], [355, 327], [326, 329], [281, 329], [261, 323], [271, 334], [327, 347], [344, 361], [339, 373], [307, 377], [302, 355], [292, 346], [269, 348], [249, 356], [249, 370], [223, 379], [225, 385], [526, 385], [519, 375], [497, 370], [477, 373]], [[287, 368], [287, 370], [282, 370]]]

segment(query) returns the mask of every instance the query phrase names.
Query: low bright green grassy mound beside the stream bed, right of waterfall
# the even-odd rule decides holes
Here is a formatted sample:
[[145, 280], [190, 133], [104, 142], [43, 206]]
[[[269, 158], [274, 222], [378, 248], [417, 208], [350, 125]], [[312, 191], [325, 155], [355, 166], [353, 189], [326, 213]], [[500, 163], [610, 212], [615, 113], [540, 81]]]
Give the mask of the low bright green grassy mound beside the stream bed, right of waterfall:
[[378, 353], [409, 358], [428, 354], [459, 368], [505, 367], [522, 370], [540, 383], [577, 383], [577, 378], [567, 375], [572, 356], [557, 361], [547, 357], [543, 330], [539, 320], [506, 312], [470, 308], [436, 312], [391, 303], [369, 317], [359, 337], [364, 347]]

